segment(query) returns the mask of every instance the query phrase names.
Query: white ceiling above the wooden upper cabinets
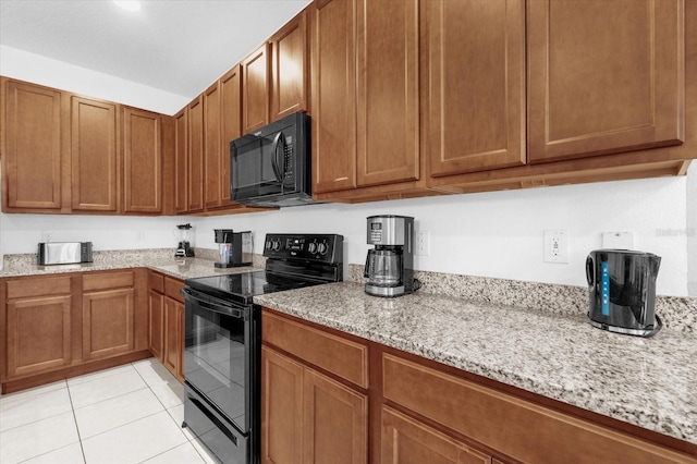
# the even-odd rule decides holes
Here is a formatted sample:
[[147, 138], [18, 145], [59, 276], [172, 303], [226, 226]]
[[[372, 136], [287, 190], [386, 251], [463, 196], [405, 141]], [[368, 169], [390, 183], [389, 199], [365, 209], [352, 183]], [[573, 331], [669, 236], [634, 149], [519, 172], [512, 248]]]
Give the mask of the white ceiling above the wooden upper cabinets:
[[310, 0], [0, 0], [0, 45], [192, 99]]

